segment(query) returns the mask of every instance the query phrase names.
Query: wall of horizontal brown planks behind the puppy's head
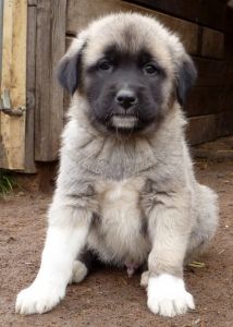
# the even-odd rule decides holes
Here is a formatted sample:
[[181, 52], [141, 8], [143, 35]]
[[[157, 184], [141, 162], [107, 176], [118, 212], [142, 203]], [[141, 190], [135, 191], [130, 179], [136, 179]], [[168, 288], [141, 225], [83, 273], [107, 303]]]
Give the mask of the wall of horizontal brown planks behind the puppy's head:
[[[198, 69], [185, 106], [192, 144], [233, 133], [233, 57], [225, 60], [226, 5], [219, 0], [68, 0], [66, 41], [89, 21], [118, 11], [158, 17], [175, 31]], [[229, 28], [230, 29], [230, 28]], [[68, 37], [69, 36], [69, 37]], [[233, 38], [232, 38], [233, 39]], [[68, 100], [65, 99], [65, 107]], [[226, 123], [228, 118], [228, 123]]]

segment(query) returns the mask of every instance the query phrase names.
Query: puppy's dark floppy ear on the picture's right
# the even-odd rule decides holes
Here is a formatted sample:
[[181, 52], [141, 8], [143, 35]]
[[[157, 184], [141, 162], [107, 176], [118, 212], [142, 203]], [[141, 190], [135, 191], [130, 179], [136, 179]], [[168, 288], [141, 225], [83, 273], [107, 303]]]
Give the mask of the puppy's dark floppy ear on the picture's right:
[[194, 85], [196, 78], [197, 70], [194, 65], [194, 62], [188, 55], [185, 55], [184, 59], [179, 65], [175, 78], [176, 96], [181, 106], [183, 106], [186, 98], [186, 93]]

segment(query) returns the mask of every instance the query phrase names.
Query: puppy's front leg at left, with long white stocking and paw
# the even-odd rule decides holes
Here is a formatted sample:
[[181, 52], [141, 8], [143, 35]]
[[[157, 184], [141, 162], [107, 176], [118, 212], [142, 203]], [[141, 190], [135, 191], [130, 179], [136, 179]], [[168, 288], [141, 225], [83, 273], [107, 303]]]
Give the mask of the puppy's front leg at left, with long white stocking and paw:
[[83, 249], [91, 214], [72, 206], [51, 207], [39, 272], [32, 286], [17, 295], [16, 312], [45, 313], [64, 298], [74, 259]]

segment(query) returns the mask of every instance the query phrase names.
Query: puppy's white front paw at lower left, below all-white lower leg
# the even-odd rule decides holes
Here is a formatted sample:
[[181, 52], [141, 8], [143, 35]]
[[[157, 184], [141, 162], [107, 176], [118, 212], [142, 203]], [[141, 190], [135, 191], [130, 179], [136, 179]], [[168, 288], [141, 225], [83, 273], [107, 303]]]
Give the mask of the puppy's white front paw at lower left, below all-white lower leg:
[[22, 315], [42, 314], [64, 298], [65, 289], [58, 284], [34, 282], [17, 294], [15, 311]]

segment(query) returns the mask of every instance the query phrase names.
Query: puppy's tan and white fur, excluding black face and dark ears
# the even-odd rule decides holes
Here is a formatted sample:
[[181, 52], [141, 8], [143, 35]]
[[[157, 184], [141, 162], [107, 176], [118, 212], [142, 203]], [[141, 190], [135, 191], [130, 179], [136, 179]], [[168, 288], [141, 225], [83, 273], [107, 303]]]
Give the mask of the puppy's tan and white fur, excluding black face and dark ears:
[[[218, 204], [214, 192], [195, 179], [184, 135], [186, 120], [174, 96], [179, 66], [188, 56], [177, 36], [156, 20], [127, 13], [91, 23], [62, 60], [76, 56], [85, 45], [85, 86], [89, 83], [85, 69], [112, 44], [131, 53], [146, 47], [164, 69], [168, 77], [161, 90], [162, 119], [157, 130], [121, 137], [96, 129], [89, 121], [85, 92], [77, 89], [74, 94], [49, 211], [48, 235], [51, 233], [53, 241], [48, 237], [36, 282], [19, 295], [16, 310], [23, 314], [53, 307], [64, 295], [73, 269], [73, 280], [86, 276], [83, 265], [74, 263], [84, 247], [105, 262], [126, 265], [128, 271], [148, 262], [149, 272], [144, 279], [149, 278], [148, 306], [154, 313], [173, 316], [194, 307], [182, 280], [183, 262], [214, 234]], [[59, 243], [54, 230], [66, 231], [65, 244]], [[79, 242], [72, 241], [75, 233]], [[66, 258], [64, 251], [69, 246], [71, 255]], [[50, 287], [48, 291], [41, 287], [50, 280], [48, 271], [58, 280], [52, 290], [61, 290], [53, 299]], [[165, 280], [175, 286], [174, 292], [167, 290], [168, 298], [163, 299], [162, 291], [158, 295], [155, 291], [154, 296], [154, 288], [165, 284]]]

